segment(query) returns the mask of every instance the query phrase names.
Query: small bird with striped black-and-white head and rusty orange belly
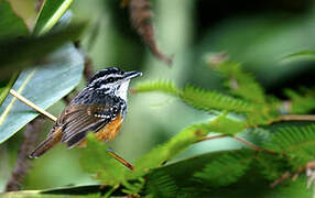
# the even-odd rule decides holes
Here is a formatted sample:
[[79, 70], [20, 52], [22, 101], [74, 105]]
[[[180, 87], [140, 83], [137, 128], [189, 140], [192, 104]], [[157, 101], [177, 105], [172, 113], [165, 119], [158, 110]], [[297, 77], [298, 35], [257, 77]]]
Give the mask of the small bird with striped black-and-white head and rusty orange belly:
[[113, 140], [127, 113], [129, 82], [141, 75], [141, 72], [123, 72], [117, 67], [95, 74], [29, 157], [37, 158], [59, 142], [66, 143], [68, 148], [86, 146], [90, 131], [100, 141]]

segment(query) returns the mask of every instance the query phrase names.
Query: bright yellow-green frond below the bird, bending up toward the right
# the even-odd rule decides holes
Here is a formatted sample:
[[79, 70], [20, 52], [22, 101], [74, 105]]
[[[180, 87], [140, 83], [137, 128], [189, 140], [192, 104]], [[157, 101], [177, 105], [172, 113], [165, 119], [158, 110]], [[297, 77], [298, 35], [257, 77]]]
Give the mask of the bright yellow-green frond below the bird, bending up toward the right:
[[[112, 164], [109, 155], [106, 155], [106, 145], [97, 143], [93, 140], [88, 142], [88, 148], [84, 152], [82, 164], [89, 173], [97, 174], [97, 179], [105, 184], [118, 185], [126, 184], [127, 180], [139, 179], [149, 173], [150, 169], [162, 166], [163, 163], [172, 160], [174, 156], [186, 150], [189, 145], [207, 135], [214, 129], [218, 128], [218, 122], [221, 123], [221, 118], [218, 117], [208, 123], [195, 124], [184, 129], [169, 142], [156, 146], [148, 154], [143, 155], [134, 163], [133, 172], [124, 167]], [[113, 168], [109, 168], [112, 166]], [[112, 178], [115, 177], [115, 178]]]

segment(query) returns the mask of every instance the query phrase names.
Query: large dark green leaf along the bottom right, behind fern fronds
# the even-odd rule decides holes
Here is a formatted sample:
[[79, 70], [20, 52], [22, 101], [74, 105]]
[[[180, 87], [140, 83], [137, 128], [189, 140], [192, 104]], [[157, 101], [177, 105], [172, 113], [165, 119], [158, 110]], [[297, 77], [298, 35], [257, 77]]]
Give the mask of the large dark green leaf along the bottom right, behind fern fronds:
[[[247, 153], [248, 152], [248, 153]], [[243, 175], [239, 177], [235, 172], [239, 166], [242, 166], [239, 160], [239, 153], [243, 155], [245, 166], [247, 169], [245, 170]], [[247, 153], [247, 154], [246, 154]], [[237, 155], [235, 157], [232, 154]], [[274, 157], [273, 155], [260, 153], [260, 155], [269, 155], [268, 158]], [[207, 165], [217, 163], [219, 158], [222, 156], [227, 157], [227, 162], [221, 161], [224, 164], [222, 168], [226, 168], [226, 173], [222, 173], [222, 177], [231, 177], [229, 174], [231, 173], [237, 182], [227, 186], [219, 186], [217, 185], [220, 183], [221, 177], [218, 180], [213, 180], [214, 186], [209, 186], [209, 183], [200, 179], [196, 179], [194, 175], [196, 173], [203, 173]], [[257, 157], [257, 153], [249, 150], [237, 150], [237, 151], [220, 151], [220, 152], [213, 152], [206, 153], [203, 155], [197, 155], [192, 158], [187, 158], [184, 161], [180, 161], [176, 163], [172, 163], [170, 165], [153, 169], [146, 176], [151, 178], [151, 174], [156, 174], [166, 176], [172, 179], [172, 184], [175, 185], [178, 189], [177, 196], [178, 197], [217, 197], [217, 198], [230, 198], [230, 197], [245, 197], [245, 198], [269, 198], [269, 197], [290, 197], [290, 198], [297, 198], [297, 197], [312, 197], [312, 189], [306, 188], [307, 178], [305, 176], [300, 175], [300, 177], [293, 182], [292, 179], [287, 179], [276, 186], [275, 188], [270, 188], [270, 184], [273, 180], [270, 178], [265, 178], [265, 175], [261, 174], [262, 166], [257, 166], [257, 161], [252, 161], [252, 163], [248, 162], [252, 161]], [[263, 160], [262, 156], [258, 156], [259, 158]], [[251, 160], [252, 158], [252, 160]], [[231, 161], [230, 161], [231, 160]], [[228, 162], [231, 162], [228, 164]], [[232, 164], [232, 162], [236, 162]], [[247, 165], [249, 163], [249, 165]], [[283, 161], [285, 163], [285, 161]], [[270, 164], [269, 164], [270, 165]], [[230, 167], [230, 168], [227, 168]], [[216, 174], [220, 172], [221, 165], [214, 169], [214, 173], [209, 173], [208, 175], [211, 177], [211, 174]], [[279, 175], [283, 175], [283, 169], [279, 169]], [[220, 183], [221, 184], [221, 183]], [[284, 185], [283, 185], [284, 184]], [[172, 186], [173, 186], [172, 185]], [[165, 185], [166, 186], [166, 185]], [[167, 186], [166, 186], [167, 187]], [[171, 186], [170, 186], [171, 187]]]

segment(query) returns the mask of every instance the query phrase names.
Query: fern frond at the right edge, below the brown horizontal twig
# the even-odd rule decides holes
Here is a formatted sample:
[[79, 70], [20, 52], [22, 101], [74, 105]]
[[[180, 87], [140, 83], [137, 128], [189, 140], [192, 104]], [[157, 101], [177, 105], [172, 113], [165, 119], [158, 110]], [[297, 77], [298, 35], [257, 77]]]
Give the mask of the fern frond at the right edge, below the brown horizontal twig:
[[315, 156], [315, 124], [280, 128], [265, 145], [290, 156], [295, 165], [303, 165]]

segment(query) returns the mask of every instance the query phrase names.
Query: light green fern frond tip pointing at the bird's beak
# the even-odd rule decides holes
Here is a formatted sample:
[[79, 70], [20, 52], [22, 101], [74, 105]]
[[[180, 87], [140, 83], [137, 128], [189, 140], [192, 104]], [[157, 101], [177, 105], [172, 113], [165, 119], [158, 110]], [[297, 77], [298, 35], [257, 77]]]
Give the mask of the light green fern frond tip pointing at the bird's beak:
[[135, 85], [133, 92], [161, 91], [169, 95], [177, 96], [178, 88], [170, 80], [144, 81]]

